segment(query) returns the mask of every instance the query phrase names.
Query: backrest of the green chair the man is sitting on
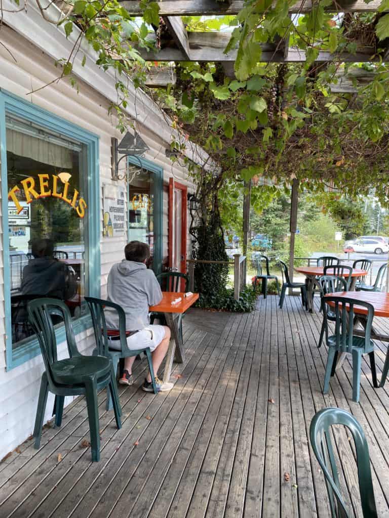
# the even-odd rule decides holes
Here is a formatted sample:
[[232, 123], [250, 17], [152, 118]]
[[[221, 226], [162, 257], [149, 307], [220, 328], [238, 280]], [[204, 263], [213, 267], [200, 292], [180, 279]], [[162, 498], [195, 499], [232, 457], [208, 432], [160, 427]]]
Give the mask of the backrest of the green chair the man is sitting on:
[[85, 297], [85, 300], [87, 301], [89, 311], [92, 316], [94, 338], [96, 340], [96, 348], [99, 355], [108, 356], [108, 327], [105, 320], [104, 308], [112, 308], [118, 314], [118, 335], [120, 337], [121, 351], [124, 354], [124, 351], [127, 349], [127, 340], [126, 313], [124, 313], [123, 308], [118, 304], [101, 298]]

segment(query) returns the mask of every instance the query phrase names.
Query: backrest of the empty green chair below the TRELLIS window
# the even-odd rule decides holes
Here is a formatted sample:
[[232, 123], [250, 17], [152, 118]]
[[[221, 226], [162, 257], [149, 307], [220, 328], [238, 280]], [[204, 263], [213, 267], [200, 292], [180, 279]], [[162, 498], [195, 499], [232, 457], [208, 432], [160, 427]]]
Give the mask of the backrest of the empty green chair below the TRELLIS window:
[[46, 367], [47, 379], [55, 384], [52, 376], [52, 365], [57, 362], [57, 339], [52, 321], [52, 315], [61, 315], [65, 324], [67, 350], [69, 356], [79, 356], [74, 336], [72, 316], [69, 308], [62, 300], [54, 298], [36, 298], [27, 304], [29, 320], [39, 342], [40, 351]]

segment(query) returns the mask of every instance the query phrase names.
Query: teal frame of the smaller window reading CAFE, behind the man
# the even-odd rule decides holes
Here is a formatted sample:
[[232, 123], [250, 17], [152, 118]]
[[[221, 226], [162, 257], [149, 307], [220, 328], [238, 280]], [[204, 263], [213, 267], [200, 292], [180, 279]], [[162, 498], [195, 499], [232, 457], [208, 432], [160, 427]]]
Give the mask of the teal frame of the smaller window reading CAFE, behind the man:
[[[152, 269], [155, 275], [162, 271], [162, 217], [163, 217], [163, 169], [150, 160], [141, 156], [128, 156], [129, 164], [141, 166], [149, 172], [154, 173], [154, 260]], [[127, 200], [129, 206], [129, 185], [127, 185]], [[130, 241], [130, 227], [127, 224], [127, 239]]]

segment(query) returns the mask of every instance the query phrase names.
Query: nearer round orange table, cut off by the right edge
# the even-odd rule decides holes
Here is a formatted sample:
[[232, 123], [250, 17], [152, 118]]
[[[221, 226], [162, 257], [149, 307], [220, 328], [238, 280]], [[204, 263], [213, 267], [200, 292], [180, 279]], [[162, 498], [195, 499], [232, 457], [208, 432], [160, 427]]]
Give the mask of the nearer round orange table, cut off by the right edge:
[[[362, 302], [367, 302], [371, 304], [374, 308], [374, 317], [375, 316], [382, 316], [384, 318], [389, 318], [389, 293], [384, 292], [355, 292], [352, 295], [350, 295], [349, 292], [337, 292], [337, 293], [328, 293], [325, 295], [325, 297], [342, 297], [342, 298], [353, 298], [354, 300], [360, 300]], [[334, 303], [330, 303], [329, 306], [334, 306]], [[346, 305], [346, 309], [348, 309], [348, 305]], [[364, 336], [364, 333], [362, 331], [359, 331], [358, 329], [355, 329], [358, 323], [362, 324], [363, 327], [365, 327], [366, 323], [366, 315], [367, 310], [364, 307], [361, 306], [354, 306], [354, 322], [353, 322], [353, 335], [356, 336]], [[373, 320], [374, 322], [374, 320]], [[379, 333], [376, 329], [374, 329], [374, 326], [371, 326], [371, 338], [373, 340], [380, 340], [381, 342], [389, 342], [389, 335], [383, 335]], [[338, 357], [338, 362], [336, 365], [336, 369], [339, 369], [342, 366], [342, 363], [345, 358], [345, 353], [341, 353]], [[389, 348], [386, 350], [386, 357], [385, 357], [385, 364], [382, 369], [382, 372], [385, 372], [387, 370], [387, 366], [389, 364]], [[382, 382], [384, 380], [381, 380], [381, 386]]]

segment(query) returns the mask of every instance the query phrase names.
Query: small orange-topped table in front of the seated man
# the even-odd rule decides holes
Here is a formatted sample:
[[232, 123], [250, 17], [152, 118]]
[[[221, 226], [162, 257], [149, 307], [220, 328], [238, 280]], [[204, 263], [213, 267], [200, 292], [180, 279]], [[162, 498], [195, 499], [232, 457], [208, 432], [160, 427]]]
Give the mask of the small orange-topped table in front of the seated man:
[[[163, 372], [164, 382], [169, 382], [173, 358], [177, 363], [183, 363], [185, 361], [184, 344], [181, 340], [177, 325], [178, 317], [193, 306], [198, 298], [198, 293], [187, 295], [182, 292], [162, 292], [162, 300], [160, 303], [155, 306], [149, 306], [150, 311], [164, 314], [166, 324], [168, 324], [172, 333], [168, 354], [166, 355], [165, 370]], [[180, 300], [175, 303], [177, 299]]]

